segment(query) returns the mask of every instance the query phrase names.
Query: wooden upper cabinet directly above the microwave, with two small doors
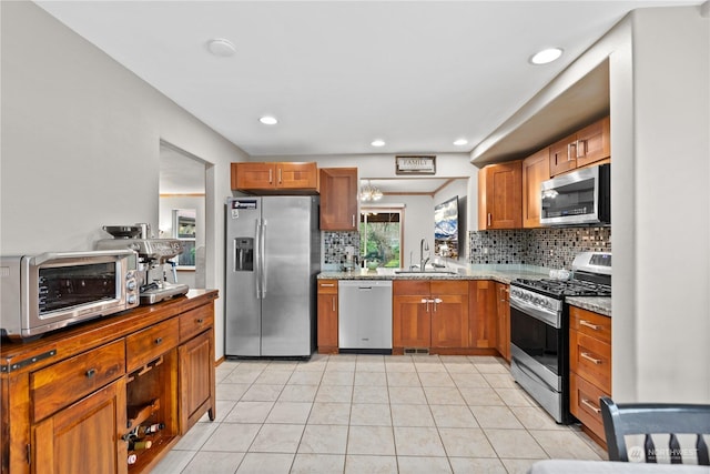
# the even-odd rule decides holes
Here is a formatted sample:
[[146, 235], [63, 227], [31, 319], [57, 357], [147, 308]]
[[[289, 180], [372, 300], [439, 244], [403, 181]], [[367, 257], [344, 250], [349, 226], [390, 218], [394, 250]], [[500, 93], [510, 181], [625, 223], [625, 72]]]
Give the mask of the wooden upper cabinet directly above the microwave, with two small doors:
[[549, 148], [550, 175], [555, 177], [609, 158], [611, 155], [610, 123], [609, 117], [606, 117], [551, 144]]

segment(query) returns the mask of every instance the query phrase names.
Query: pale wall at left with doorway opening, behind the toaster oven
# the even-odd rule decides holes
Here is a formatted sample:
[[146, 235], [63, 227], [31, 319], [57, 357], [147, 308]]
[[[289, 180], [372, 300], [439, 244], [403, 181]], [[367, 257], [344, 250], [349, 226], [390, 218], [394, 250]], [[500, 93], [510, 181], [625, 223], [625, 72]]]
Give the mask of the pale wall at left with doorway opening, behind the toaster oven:
[[229, 163], [246, 154], [36, 4], [0, 9], [0, 252], [92, 249], [104, 224], [158, 229], [163, 139], [211, 163], [206, 285], [223, 296]]

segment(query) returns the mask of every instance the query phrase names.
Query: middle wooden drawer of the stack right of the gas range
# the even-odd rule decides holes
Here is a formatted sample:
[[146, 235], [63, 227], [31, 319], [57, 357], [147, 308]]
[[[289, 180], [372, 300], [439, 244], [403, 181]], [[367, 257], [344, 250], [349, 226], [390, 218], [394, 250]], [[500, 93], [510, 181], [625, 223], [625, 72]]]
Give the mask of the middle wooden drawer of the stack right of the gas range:
[[611, 345], [569, 331], [569, 369], [600, 390], [611, 392]]

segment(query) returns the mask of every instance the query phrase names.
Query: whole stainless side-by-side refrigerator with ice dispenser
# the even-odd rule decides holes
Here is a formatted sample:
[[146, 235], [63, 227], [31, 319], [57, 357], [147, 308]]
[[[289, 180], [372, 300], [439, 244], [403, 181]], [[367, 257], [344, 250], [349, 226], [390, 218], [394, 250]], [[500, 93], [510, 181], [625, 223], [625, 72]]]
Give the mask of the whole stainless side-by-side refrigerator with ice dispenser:
[[230, 198], [225, 228], [225, 355], [311, 356], [318, 198]]

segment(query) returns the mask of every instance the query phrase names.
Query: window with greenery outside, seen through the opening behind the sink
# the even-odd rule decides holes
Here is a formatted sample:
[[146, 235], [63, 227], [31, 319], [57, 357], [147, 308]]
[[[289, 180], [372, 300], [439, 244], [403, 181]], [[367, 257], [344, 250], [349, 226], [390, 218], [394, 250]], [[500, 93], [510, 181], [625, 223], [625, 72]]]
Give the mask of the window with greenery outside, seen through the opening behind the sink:
[[378, 266], [400, 268], [404, 210], [389, 208], [361, 208], [359, 254]]

